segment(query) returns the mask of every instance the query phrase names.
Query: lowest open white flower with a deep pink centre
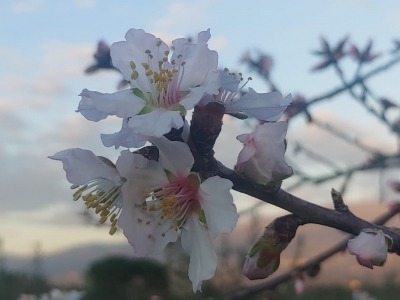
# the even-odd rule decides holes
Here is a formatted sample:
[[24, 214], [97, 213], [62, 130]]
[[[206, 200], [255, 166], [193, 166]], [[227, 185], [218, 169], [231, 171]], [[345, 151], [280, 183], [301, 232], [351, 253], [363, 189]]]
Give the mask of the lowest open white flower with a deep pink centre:
[[[215, 238], [231, 232], [238, 214], [230, 194], [232, 182], [218, 176], [201, 183], [190, 170], [194, 158], [189, 147], [162, 137], [151, 140], [160, 153], [159, 162], [122, 151], [120, 174], [123, 210], [118, 221], [136, 255], [158, 253], [181, 232], [181, 243], [190, 255], [189, 278], [193, 290], [210, 279], [217, 255], [207, 229]], [[207, 228], [207, 229], [206, 229]]]

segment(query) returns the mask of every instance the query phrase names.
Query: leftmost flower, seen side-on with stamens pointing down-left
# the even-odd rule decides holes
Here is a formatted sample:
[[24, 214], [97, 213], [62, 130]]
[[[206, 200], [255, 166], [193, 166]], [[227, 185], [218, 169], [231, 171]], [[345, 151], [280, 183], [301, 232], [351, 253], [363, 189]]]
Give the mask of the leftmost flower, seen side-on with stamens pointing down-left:
[[81, 198], [88, 209], [100, 213], [100, 223], [110, 218], [113, 235], [122, 209], [121, 186], [126, 181], [118, 172], [118, 161], [116, 167], [107, 158], [79, 148], [60, 151], [49, 158], [63, 163], [71, 189], [76, 189], [75, 201]]

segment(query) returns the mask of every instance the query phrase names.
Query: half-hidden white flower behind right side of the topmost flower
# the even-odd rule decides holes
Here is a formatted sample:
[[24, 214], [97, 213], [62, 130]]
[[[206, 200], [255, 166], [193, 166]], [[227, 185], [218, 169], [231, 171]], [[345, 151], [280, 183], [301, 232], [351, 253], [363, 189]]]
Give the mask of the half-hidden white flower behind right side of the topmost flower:
[[204, 95], [201, 104], [216, 101], [225, 107], [225, 113], [244, 113], [249, 117], [254, 117], [263, 121], [279, 120], [286, 107], [292, 102], [292, 95], [285, 98], [279, 92], [257, 93], [252, 88], [249, 92], [240, 97], [241, 90], [247, 85], [251, 77], [239, 87], [243, 81], [242, 74], [239, 77], [229, 71], [220, 71], [221, 88], [215, 96]]

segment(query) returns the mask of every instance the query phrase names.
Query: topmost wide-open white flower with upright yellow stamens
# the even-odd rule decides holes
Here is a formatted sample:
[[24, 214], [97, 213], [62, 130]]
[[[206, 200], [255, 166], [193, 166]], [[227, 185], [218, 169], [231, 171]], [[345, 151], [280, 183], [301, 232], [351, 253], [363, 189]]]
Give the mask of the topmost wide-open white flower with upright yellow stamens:
[[78, 111], [99, 121], [108, 115], [129, 118], [133, 132], [161, 137], [183, 126], [186, 110], [204, 93], [218, 93], [218, 54], [208, 49], [210, 31], [200, 32], [198, 43], [187, 39], [172, 42], [174, 53], [154, 35], [130, 29], [126, 41], [111, 46], [111, 58], [131, 89], [114, 94], [83, 90]]

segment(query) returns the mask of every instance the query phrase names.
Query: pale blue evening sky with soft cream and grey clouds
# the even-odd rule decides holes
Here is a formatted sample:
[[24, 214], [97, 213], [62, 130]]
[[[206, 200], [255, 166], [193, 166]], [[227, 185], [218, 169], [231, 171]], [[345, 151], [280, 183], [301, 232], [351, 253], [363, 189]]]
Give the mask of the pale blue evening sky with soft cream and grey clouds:
[[[47, 159], [73, 147], [113, 160], [118, 157], [118, 150], [102, 146], [99, 134], [115, 132], [119, 121], [110, 118], [92, 123], [74, 112], [82, 89], [115, 92], [121, 79], [113, 71], [84, 74], [94, 62], [99, 40], [111, 44], [123, 40], [128, 29], [142, 28], [169, 43], [210, 28], [209, 47], [218, 51], [221, 68], [252, 76], [251, 87], [265, 92], [266, 85], [240, 62], [246, 51], [262, 50], [274, 58], [272, 77], [285, 95], [301, 93], [312, 98], [340, 86], [332, 70], [309, 72], [318, 63], [310, 52], [319, 48], [320, 36], [336, 43], [349, 35], [359, 46], [372, 38], [376, 51], [387, 54], [392, 40], [400, 38], [399, 13], [400, 2], [394, 0], [1, 1], [0, 237], [6, 252], [30, 255], [36, 241], [46, 253], [84, 243], [124, 241], [122, 234], [110, 237], [107, 229], [84, 223], [80, 217], [84, 206], [71, 200], [61, 164]], [[344, 70], [351, 74], [354, 69], [346, 59]], [[395, 67], [370, 80], [370, 87], [400, 101], [399, 75], [400, 68]], [[312, 112], [383, 152], [396, 150], [391, 133], [347, 94], [316, 105]], [[226, 118], [217, 158], [232, 167], [241, 149], [235, 137], [250, 130], [243, 122]], [[288, 140], [289, 145], [302, 142], [342, 167], [367, 158], [306, 126], [302, 117], [290, 124]], [[306, 157], [293, 157], [293, 161], [305, 171], [327, 171]], [[385, 176], [400, 178], [397, 174], [394, 169]], [[349, 201], [376, 200], [377, 178], [374, 172], [355, 176]], [[339, 188], [340, 184], [341, 180], [336, 180], [329, 185], [305, 186], [294, 194], [329, 205], [330, 187]], [[385, 195], [393, 197], [389, 191]], [[237, 193], [235, 201], [240, 209], [256, 203]], [[263, 212], [277, 210], [268, 206]]]

